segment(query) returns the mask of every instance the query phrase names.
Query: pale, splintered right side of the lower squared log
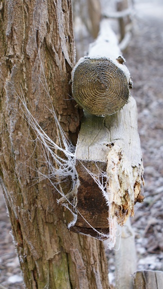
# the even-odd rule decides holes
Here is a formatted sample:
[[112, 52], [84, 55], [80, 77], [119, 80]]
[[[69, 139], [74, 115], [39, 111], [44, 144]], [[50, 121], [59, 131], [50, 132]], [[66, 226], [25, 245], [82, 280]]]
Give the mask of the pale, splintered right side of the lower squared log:
[[115, 115], [107, 116], [105, 126], [111, 135], [111, 149], [107, 155], [107, 176], [110, 212], [123, 225], [133, 216], [133, 206], [141, 201], [143, 166], [139, 135], [137, 132], [137, 109], [134, 98]]

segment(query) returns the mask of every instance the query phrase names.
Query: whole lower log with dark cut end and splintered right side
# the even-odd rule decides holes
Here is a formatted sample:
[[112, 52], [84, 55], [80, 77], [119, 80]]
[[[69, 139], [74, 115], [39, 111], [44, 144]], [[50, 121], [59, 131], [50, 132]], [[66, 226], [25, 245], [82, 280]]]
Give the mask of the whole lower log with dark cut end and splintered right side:
[[104, 234], [113, 234], [113, 222], [123, 225], [130, 214], [133, 216], [135, 202], [143, 200], [143, 166], [132, 97], [113, 115], [84, 114], [76, 170], [79, 213], [71, 230], [104, 239]]

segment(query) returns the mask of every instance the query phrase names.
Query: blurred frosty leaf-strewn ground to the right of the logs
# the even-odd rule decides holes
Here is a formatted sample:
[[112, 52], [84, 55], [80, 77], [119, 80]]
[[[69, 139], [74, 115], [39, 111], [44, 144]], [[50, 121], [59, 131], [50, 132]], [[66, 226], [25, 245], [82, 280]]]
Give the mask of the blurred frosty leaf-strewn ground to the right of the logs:
[[163, 270], [163, 19], [159, 11], [163, 6], [139, 5], [139, 21], [126, 57], [134, 81], [145, 181], [144, 202], [132, 219], [138, 269]]

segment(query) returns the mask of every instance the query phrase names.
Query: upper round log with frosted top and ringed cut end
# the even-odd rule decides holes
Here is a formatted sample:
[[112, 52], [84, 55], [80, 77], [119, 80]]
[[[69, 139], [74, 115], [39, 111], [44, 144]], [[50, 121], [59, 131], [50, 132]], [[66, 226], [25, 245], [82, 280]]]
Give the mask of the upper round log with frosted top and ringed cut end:
[[127, 103], [132, 82], [115, 35], [102, 23], [104, 31], [72, 70], [72, 96], [87, 112], [104, 116]]

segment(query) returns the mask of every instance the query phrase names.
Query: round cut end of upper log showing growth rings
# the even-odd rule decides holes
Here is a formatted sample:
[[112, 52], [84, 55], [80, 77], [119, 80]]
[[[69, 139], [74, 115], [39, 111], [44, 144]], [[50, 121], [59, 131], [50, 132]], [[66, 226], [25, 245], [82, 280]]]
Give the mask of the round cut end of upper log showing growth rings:
[[[83, 58], [72, 72], [72, 96], [87, 112], [99, 116], [119, 110], [129, 97], [124, 71], [108, 58]], [[123, 66], [123, 65], [122, 65]]]

